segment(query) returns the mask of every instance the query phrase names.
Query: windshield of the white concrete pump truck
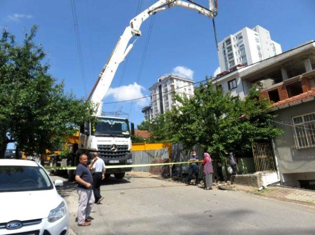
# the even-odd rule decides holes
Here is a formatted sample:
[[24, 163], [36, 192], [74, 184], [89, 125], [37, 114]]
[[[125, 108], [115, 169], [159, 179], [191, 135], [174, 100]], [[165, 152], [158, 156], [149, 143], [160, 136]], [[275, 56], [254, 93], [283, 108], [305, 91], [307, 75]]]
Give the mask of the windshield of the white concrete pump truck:
[[129, 135], [129, 125], [126, 119], [98, 118], [94, 134]]

